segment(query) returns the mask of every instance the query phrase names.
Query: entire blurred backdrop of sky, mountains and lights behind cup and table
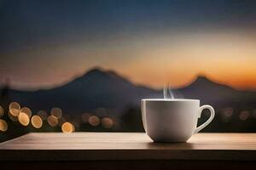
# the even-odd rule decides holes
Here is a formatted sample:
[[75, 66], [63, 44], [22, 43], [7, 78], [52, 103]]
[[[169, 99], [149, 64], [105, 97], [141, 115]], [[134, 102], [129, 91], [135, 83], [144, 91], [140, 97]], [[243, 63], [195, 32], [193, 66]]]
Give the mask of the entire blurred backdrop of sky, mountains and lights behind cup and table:
[[215, 108], [203, 132], [256, 132], [255, 1], [0, 0], [0, 23], [0, 141], [143, 132], [166, 82]]

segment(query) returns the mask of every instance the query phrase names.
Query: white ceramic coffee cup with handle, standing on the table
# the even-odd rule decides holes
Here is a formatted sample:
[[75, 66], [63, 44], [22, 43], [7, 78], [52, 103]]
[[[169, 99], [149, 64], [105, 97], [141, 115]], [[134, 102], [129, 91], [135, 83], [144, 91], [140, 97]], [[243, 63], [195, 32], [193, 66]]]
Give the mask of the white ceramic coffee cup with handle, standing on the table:
[[[211, 112], [207, 122], [197, 126], [201, 111]], [[142, 99], [143, 127], [154, 142], [186, 142], [212, 122], [211, 105], [200, 106], [199, 99]]]

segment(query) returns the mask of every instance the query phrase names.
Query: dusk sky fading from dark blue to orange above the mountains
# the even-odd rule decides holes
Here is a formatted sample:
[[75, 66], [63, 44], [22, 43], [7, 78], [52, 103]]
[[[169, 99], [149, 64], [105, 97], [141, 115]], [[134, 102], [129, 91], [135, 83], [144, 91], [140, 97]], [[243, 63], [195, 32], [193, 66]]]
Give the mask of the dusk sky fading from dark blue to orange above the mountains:
[[256, 89], [256, 1], [0, 0], [0, 82], [52, 88], [95, 66], [162, 88]]

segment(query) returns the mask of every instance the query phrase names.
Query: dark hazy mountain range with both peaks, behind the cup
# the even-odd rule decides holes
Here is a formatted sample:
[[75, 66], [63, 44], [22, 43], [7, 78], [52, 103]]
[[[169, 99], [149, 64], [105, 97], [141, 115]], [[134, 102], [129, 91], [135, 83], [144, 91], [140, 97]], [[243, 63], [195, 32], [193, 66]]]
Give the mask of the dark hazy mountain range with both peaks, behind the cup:
[[[173, 89], [184, 98], [201, 99], [201, 104], [228, 105], [254, 103], [256, 93], [239, 91], [199, 76], [184, 88]], [[117, 112], [127, 105], [140, 105], [143, 98], [163, 98], [162, 90], [139, 86], [114, 71], [96, 67], [83, 76], [57, 88], [34, 92], [10, 89], [9, 99], [28, 105], [35, 110], [50, 110], [58, 106], [67, 112], [93, 111], [98, 107]]]

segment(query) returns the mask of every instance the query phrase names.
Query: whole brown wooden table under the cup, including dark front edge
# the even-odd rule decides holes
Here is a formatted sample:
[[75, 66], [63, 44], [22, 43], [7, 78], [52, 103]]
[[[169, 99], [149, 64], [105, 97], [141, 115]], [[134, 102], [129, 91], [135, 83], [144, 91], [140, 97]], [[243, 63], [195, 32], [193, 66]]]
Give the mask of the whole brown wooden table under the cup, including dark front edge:
[[[28, 133], [0, 144], [0, 168], [256, 168], [256, 133], [197, 133], [156, 144], [145, 133]], [[175, 168], [176, 167], [176, 168]]]

